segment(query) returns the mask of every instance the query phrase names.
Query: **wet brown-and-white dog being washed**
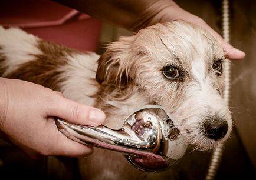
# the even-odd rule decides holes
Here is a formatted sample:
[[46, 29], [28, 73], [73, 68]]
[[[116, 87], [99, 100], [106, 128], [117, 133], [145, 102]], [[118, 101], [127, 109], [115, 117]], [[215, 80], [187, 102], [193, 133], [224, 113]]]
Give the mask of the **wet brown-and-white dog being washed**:
[[[104, 125], [111, 129], [120, 128], [124, 117], [143, 105], [160, 105], [198, 150], [223, 144], [232, 129], [222, 98], [223, 61], [219, 42], [182, 20], [121, 37], [107, 44], [101, 56], [46, 42], [18, 28], [0, 28], [2, 77], [41, 84], [100, 108], [106, 114]], [[84, 179], [149, 178], [122, 154], [103, 149], [95, 148], [79, 165]]]

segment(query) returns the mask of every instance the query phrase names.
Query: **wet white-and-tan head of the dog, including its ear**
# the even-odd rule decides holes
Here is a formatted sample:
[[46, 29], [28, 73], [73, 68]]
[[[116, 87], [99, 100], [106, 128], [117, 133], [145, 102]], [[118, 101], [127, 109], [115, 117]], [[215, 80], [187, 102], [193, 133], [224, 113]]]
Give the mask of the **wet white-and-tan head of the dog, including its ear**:
[[[138, 96], [161, 105], [189, 143], [212, 149], [228, 138], [232, 126], [222, 98], [224, 59], [221, 46], [206, 31], [173, 21], [110, 44], [99, 59], [96, 79], [104, 88], [111, 86], [104, 93], [108, 101]], [[166, 134], [173, 125], [166, 122]]]

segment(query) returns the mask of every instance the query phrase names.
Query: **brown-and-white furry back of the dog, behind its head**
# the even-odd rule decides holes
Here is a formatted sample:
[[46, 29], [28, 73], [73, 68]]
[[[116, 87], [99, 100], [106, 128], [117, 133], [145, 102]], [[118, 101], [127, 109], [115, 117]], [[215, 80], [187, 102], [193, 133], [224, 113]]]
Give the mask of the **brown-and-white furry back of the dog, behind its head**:
[[42, 41], [18, 28], [0, 27], [0, 76], [41, 84], [93, 105], [99, 55]]

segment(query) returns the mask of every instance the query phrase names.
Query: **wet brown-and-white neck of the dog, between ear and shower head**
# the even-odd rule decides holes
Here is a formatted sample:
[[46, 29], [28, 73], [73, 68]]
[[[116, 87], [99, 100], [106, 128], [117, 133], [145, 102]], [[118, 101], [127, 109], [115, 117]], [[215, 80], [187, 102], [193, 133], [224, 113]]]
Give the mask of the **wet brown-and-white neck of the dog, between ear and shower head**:
[[130, 114], [149, 104], [148, 99], [136, 89], [136, 86], [123, 90], [118, 87], [113, 88], [111, 85], [99, 87], [93, 106], [105, 112], [105, 126], [111, 129], [121, 129]]

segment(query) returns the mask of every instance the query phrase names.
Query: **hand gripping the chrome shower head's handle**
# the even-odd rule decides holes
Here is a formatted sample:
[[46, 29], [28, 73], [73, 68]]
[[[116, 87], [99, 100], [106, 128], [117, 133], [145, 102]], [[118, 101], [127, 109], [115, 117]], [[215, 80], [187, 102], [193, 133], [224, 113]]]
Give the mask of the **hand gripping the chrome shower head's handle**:
[[85, 156], [93, 148], [68, 139], [54, 117], [81, 125], [100, 125], [104, 113], [65, 99], [59, 92], [17, 79], [0, 78], [0, 132], [28, 155]]

